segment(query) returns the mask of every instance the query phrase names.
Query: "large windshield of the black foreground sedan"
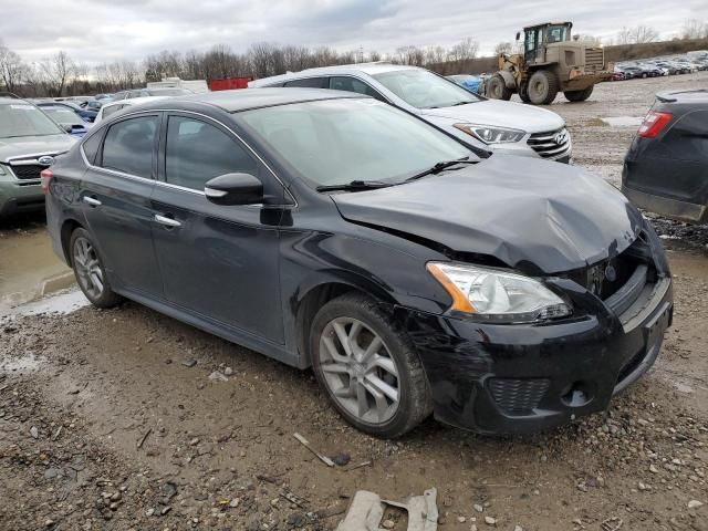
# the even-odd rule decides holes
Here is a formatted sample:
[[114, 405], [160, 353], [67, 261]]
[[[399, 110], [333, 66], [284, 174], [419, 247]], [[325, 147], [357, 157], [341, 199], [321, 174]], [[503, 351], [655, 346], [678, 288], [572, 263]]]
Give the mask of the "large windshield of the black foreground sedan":
[[477, 158], [425, 122], [376, 100], [326, 100], [236, 119], [312, 186], [397, 184], [444, 160]]

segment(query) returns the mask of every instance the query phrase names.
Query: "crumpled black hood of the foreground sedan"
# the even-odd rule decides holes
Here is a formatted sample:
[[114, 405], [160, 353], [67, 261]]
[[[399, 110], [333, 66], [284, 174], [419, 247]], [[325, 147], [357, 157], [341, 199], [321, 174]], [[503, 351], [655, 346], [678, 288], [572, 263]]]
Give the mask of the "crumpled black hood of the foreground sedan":
[[375, 190], [332, 195], [344, 219], [528, 274], [585, 268], [626, 249], [642, 215], [580, 168], [490, 157], [464, 169]]

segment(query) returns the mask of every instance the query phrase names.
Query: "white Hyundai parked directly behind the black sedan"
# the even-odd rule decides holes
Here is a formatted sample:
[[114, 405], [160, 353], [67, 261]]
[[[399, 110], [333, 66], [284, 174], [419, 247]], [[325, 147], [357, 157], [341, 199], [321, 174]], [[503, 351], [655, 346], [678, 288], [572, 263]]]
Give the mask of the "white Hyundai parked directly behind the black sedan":
[[487, 100], [416, 66], [361, 63], [326, 66], [252, 81], [249, 87], [300, 86], [371, 95], [446, 132], [497, 153], [569, 163], [571, 135], [558, 114]]

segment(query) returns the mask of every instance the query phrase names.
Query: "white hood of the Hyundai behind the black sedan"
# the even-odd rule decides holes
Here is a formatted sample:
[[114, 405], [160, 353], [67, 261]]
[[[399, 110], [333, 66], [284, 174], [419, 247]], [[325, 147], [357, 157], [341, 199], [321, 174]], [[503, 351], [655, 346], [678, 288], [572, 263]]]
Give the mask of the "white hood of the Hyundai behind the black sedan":
[[455, 107], [421, 108], [420, 115], [452, 118], [460, 123], [511, 127], [528, 133], [555, 131], [565, 125], [563, 118], [545, 108], [499, 100], [485, 100]]

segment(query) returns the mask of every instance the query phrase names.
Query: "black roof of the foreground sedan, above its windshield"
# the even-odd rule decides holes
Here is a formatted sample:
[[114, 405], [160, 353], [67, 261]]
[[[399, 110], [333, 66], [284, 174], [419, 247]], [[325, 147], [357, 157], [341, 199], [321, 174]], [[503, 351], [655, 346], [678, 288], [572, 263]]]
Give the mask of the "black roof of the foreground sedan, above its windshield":
[[[201, 103], [219, 107], [227, 113], [238, 113], [252, 108], [274, 107], [291, 103], [303, 103], [320, 100], [353, 100], [369, 97], [363, 94], [329, 91], [324, 88], [237, 88], [233, 91], [217, 91], [202, 94], [190, 94], [188, 96], [168, 97], [169, 106], [174, 108], [188, 108], [191, 104]], [[138, 100], [138, 98], [135, 98]], [[162, 107], [164, 103], [150, 102], [157, 97], [146, 97], [143, 108]], [[164, 100], [160, 97], [160, 100]]]

